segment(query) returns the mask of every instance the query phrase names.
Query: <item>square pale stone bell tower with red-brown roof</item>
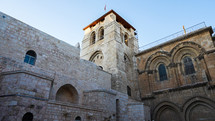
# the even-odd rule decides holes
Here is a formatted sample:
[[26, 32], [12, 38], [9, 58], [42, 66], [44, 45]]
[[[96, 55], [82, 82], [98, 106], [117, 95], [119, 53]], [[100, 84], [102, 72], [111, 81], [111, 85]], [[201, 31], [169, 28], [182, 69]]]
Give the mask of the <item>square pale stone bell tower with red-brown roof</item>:
[[112, 74], [112, 89], [132, 95], [137, 82], [135, 28], [110, 10], [84, 29], [81, 58]]

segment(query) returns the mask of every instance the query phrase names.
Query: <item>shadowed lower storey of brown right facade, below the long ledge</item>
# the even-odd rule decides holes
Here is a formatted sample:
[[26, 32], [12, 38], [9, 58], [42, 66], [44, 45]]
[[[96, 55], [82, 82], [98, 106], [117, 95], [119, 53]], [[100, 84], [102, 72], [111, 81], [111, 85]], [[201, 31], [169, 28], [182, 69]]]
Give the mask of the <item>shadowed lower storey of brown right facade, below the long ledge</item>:
[[144, 102], [150, 105], [155, 121], [215, 119], [215, 92], [211, 87], [201, 85], [178, 91], [165, 91], [154, 96], [154, 99], [145, 99]]

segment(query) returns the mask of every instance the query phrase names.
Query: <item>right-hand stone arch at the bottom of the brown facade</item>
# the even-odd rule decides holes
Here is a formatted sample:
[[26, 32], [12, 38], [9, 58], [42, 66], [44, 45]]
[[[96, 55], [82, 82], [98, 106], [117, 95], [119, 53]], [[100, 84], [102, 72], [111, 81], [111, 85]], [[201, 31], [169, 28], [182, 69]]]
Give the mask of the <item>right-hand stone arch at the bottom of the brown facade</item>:
[[215, 120], [215, 102], [205, 97], [193, 97], [183, 105], [183, 116], [186, 121]]

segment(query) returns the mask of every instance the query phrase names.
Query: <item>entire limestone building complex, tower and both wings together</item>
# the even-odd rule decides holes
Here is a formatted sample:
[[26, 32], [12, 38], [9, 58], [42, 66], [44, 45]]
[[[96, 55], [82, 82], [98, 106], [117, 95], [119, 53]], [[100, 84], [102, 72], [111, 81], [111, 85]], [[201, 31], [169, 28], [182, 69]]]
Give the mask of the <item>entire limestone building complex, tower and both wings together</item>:
[[215, 39], [203, 27], [139, 51], [111, 10], [71, 46], [0, 12], [0, 121], [214, 121]]

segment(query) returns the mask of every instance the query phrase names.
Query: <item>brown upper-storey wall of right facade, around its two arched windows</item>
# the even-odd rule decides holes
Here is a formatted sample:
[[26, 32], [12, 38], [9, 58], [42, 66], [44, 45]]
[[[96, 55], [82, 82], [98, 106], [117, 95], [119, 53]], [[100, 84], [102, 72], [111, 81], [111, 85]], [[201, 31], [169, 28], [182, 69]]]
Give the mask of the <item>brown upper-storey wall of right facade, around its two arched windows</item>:
[[[215, 67], [212, 64], [214, 45], [210, 32], [210, 27], [203, 28], [137, 54], [141, 95], [214, 80], [214, 74], [212, 74]], [[196, 71], [193, 75], [185, 75], [181, 60], [186, 54], [193, 58]], [[156, 67], [159, 63], [166, 65], [168, 78], [166, 81], [159, 81]]]

